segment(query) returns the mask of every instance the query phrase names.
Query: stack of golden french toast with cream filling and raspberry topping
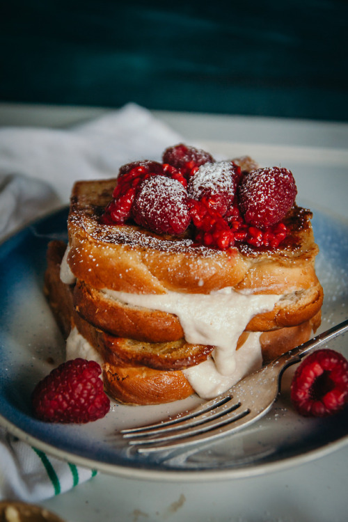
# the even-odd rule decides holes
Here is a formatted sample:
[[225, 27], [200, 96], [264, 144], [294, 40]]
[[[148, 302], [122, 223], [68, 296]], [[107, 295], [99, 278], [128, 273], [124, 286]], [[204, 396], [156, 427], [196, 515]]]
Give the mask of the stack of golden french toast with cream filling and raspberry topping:
[[[106, 393], [125, 404], [161, 404], [193, 393], [214, 397], [308, 340], [320, 324], [323, 291], [315, 273], [311, 212], [292, 200], [275, 223], [262, 228], [246, 221], [246, 212], [235, 210], [242, 206], [240, 187], [262, 169], [249, 158], [222, 164], [205, 155], [199, 161], [199, 151], [182, 144], [185, 154], [178, 159], [175, 147], [175, 161], [167, 152], [155, 167], [139, 161], [121, 168], [115, 179], [76, 182], [68, 245], [54, 241], [47, 251], [45, 292], [68, 353], [81, 356], [78, 347], [87, 345], [88, 356], [102, 365]], [[204, 167], [210, 192], [202, 198], [205, 221], [202, 213], [199, 221], [194, 197], [200, 196], [196, 191], [192, 197], [189, 187]], [[234, 192], [223, 211], [212, 189], [221, 173], [237, 180], [217, 183]], [[180, 222], [186, 228], [153, 226], [154, 212], [155, 222], [166, 207], [172, 212], [172, 182], [163, 179], [163, 200], [155, 209], [162, 197], [153, 196], [159, 177], [184, 188], [184, 196], [182, 188], [178, 193], [189, 209], [189, 219]], [[182, 203], [175, 219], [180, 212]], [[199, 229], [203, 221], [214, 233]], [[228, 235], [229, 230], [237, 231]], [[276, 242], [262, 239], [277, 233]]]

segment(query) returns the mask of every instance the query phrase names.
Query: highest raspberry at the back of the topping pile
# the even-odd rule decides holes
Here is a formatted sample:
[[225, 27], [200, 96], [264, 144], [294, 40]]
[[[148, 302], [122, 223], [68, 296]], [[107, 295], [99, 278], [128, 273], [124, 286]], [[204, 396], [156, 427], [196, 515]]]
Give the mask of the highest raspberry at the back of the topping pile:
[[205, 150], [179, 143], [164, 151], [162, 161], [178, 168], [184, 176], [189, 177], [200, 165], [212, 163], [214, 158]]

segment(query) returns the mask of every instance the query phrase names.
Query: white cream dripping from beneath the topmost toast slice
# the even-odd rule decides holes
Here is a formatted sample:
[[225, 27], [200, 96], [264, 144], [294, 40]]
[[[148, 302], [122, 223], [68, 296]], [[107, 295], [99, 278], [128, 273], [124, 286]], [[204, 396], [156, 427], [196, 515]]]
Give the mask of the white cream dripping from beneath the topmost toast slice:
[[244, 294], [230, 287], [210, 294], [129, 294], [104, 290], [113, 299], [132, 306], [177, 315], [187, 342], [212, 345], [216, 370], [225, 376], [235, 372], [235, 350], [239, 335], [250, 319], [273, 310], [279, 295]]

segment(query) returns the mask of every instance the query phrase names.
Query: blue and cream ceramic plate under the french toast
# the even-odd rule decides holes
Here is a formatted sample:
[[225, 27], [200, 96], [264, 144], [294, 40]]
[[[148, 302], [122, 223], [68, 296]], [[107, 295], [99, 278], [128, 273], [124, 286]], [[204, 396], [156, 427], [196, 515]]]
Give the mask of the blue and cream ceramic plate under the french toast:
[[[50, 425], [31, 415], [31, 390], [64, 359], [64, 343], [42, 294], [50, 239], [66, 239], [67, 209], [25, 228], [0, 246], [0, 424], [36, 448], [106, 473], [166, 480], [245, 477], [319, 457], [347, 444], [347, 410], [306, 419], [289, 399], [293, 368], [285, 372], [274, 408], [255, 425], [208, 448], [146, 457], [129, 450], [118, 429], [166, 418], [195, 398], [165, 406], [111, 404], [88, 425]], [[348, 317], [348, 225], [320, 212], [313, 220], [320, 247], [317, 274], [325, 299], [321, 331]], [[331, 347], [348, 356], [347, 338]]]

